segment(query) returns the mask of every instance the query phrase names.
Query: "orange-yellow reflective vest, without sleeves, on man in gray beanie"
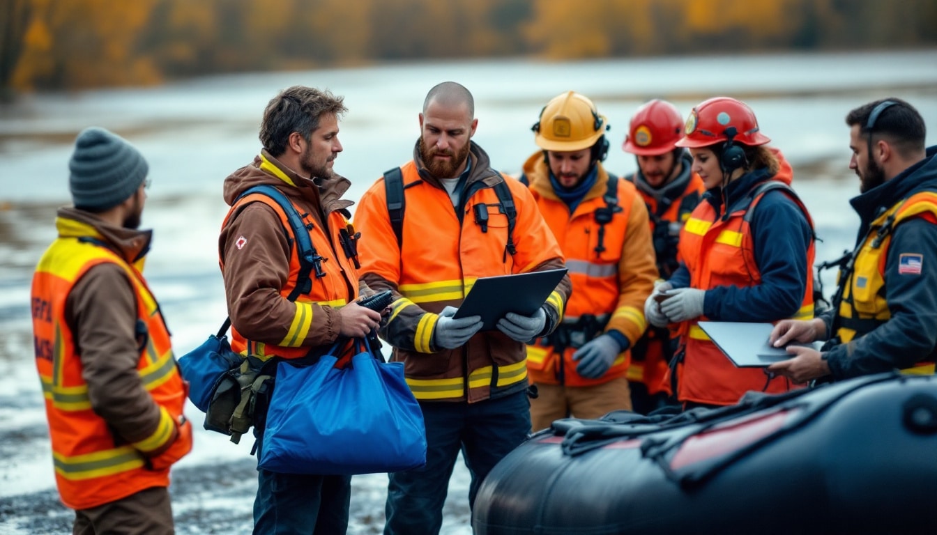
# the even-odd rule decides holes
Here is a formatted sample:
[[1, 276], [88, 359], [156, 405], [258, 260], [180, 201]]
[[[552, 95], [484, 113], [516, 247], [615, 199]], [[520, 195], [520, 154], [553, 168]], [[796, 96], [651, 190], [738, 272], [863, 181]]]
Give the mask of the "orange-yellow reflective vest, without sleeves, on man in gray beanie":
[[[169, 485], [169, 468], [147, 468], [146, 453], [171, 439], [175, 418], [186, 404], [186, 385], [159, 305], [138, 266], [104, 246], [90, 225], [59, 217], [56, 227], [59, 237], [39, 260], [33, 279], [36, 366], [50, 424], [55, 483], [68, 507], [88, 509], [145, 488]], [[121, 266], [133, 285], [138, 334], [145, 338], [137, 370], [143, 388], [160, 407], [156, 431], [134, 443], [115, 437], [92, 409], [75, 348], [76, 334], [65, 316], [67, 297], [75, 284], [89, 269], [106, 262]]]

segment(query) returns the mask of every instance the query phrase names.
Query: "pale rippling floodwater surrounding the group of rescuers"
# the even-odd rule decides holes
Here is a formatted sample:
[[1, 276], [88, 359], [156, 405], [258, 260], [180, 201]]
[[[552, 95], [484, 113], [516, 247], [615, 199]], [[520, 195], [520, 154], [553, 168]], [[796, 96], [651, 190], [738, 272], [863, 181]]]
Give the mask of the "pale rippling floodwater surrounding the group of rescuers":
[[[67, 159], [84, 126], [111, 128], [149, 160], [153, 186], [143, 226], [156, 237], [145, 274], [160, 299], [177, 354], [201, 343], [225, 318], [216, 258], [226, 212], [221, 182], [260, 149], [266, 102], [292, 84], [328, 88], [350, 111], [335, 171], [357, 200], [382, 171], [409, 159], [417, 113], [437, 82], [465, 84], [476, 98], [477, 141], [501, 171], [516, 173], [534, 152], [530, 126], [549, 98], [574, 89], [592, 97], [612, 129], [606, 165], [631, 172], [619, 147], [634, 109], [652, 97], [684, 113], [707, 97], [748, 102], [762, 131], [795, 168], [795, 187], [830, 260], [855, 239], [848, 205], [858, 180], [848, 170], [846, 112], [880, 97], [902, 97], [937, 129], [937, 51], [773, 55], [533, 63], [523, 60], [390, 65], [213, 77], [150, 89], [26, 97], [0, 108], [0, 533], [66, 532], [58, 505], [39, 381], [33, 364], [29, 283], [54, 237], [56, 206], [68, 202]], [[929, 144], [937, 142], [933, 132]], [[825, 275], [827, 294], [832, 274]], [[187, 413], [201, 421], [198, 409]], [[180, 533], [249, 533], [256, 489], [249, 443], [207, 431], [174, 471]], [[443, 533], [470, 533], [468, 476], [456, 469]], [[354, 478], [350, 533], [379, 533], [386, 476]]]

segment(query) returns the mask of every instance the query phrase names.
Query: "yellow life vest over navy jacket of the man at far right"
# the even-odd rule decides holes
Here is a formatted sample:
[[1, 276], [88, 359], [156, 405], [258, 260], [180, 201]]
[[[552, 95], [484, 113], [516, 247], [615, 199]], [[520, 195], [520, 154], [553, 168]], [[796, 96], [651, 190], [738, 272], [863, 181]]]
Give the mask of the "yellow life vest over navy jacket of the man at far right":
[[[901, 221], [911, 217], [925, 217], [937, 223], [937, 193], [924, 191], [901, 200], [885, 214], [879, 215], [870, 224], [869, 233], [855, 253], [853, 269], [842, 283], [842, 299], [836, 335], [846, 343], [855, 337], [868, 334], [891, 319], [885, 299], [885, 261], [891, 233]], [[901, 370], [909, 374], [934, 373], [934, 356], [910, 368]]]

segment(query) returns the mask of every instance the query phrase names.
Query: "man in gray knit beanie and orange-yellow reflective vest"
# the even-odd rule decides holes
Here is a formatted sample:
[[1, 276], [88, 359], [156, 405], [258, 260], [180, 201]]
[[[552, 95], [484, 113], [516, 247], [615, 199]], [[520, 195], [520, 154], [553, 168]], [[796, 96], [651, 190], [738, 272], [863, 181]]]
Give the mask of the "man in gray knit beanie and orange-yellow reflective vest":
[[171, 465], [192, 449], [185, 383], [141, 275], [137, 230], [148, 167], [140, 151], [86, 128], [68, 162], [74, 207], [33, 276], [36, 366], [55, 483], [75, 533], [173, 533]]

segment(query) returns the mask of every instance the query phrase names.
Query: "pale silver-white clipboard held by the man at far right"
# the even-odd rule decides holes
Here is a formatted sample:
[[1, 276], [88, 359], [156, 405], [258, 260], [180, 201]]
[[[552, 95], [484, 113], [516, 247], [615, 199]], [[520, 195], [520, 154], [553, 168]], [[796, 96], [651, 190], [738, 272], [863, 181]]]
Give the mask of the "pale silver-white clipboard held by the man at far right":
[[767, 339], [774, 329], [771, 323], [748, 323], [744, 321], [700, 321], [700, 329], [709, 336], [716, 347], [732, 364], [739, 368], [766, 367], [793, 359], [787, 352], [788, 346], [820, 349], [820, 342], [791, 342], [783, 348], [768, 346]]

